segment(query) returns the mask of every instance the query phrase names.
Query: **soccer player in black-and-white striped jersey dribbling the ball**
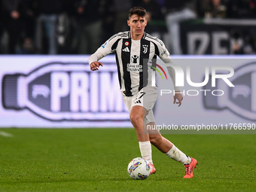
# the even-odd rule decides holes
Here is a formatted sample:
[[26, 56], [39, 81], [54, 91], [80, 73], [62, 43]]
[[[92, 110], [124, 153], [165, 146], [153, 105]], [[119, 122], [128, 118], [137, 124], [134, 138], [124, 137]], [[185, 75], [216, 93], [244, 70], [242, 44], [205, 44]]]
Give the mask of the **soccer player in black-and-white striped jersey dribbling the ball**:
[[[148, 125], [155, 126], [153, 107], [157, 100], [157, 86], [152, 86], [153, 70], [148, 67], [148, 64], [153, 65], [152, 59], [156, 59], [157, 56], [163, 62], [172, 63], [163, 41], [145, 32], [145, 26], [147, 26], [145, 15], [146, 10], [144, 8], [130, 9], [129, 20], [127, 20], [130, 31], [119, 32], [109, 38], [105, 44], [102, 44], [89, 58], [90, 69], [92, 71], [99, 70], [99, 67], [103, 66], [99, 59], [109, 53], [114, 52], [116, 54], [123, 102], [130, 111], [130, 120], [136, 129], [142, 157], [151, 163], [151, 174], [156, 172], [151, 155], [152, 144], [168, 157], [183, 163], [185, 167], [184, 178], [192, 178], [197, 160], [181, 152], [172, 142], [161, 136], [159, 130], [145, 129]], [[148, 59], [148, 62], [143, 64], [143, 59]], [[167, 67], [167, 69], [175, 87], [175, 71], [172, 67]], [[182, 99], [183, 96], [179, 92], [179, 88], [175, 87], [173, 103], [180, 106]]]

